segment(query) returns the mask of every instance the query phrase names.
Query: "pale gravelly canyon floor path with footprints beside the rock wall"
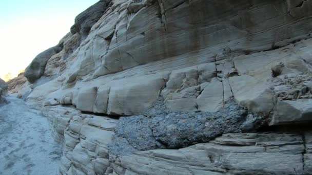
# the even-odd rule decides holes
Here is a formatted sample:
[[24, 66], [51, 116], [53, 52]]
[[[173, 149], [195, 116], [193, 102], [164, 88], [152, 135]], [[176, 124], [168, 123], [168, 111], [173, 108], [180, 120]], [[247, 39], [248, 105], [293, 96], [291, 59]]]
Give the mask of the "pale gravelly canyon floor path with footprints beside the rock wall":
[[0, 174], [55, 174], [62, 149], [40, 111], [15, 97], [0, 107]]

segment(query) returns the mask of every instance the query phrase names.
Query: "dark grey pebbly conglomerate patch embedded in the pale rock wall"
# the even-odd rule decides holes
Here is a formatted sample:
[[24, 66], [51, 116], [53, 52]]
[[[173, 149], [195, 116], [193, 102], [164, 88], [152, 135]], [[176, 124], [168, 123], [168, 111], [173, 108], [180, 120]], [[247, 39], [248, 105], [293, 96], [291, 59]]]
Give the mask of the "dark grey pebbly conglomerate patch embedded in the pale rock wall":
[[[157, 110], [152, 107], [145, 112], [150, 117], [122, 117], [115, 127], [111, 147], [130, 146], [138, 150], [182, 148], [208, 142], [225, 133], [250, 132], [265, 124], [261, 116], [248, 115], [246, 108], [233, 100], [216, 113], [166, 113], [168, 110], [164, 105], [160, 106], [158, 101], [154, 105]], [[126, 139], [129, 145], [117, 144], [122, 139]]]

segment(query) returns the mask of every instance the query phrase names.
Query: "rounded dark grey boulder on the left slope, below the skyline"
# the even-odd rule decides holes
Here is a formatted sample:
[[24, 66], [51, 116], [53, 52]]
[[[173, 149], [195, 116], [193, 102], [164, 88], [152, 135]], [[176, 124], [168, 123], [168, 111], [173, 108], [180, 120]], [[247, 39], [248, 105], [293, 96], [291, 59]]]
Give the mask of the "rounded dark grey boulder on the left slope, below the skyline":
[[55, 46], [37, 55], [28, 65], [24, 73], [27, 80], [33, 83], [39, 79], [44, 74], [47, 62], [51, 56], [59, 53], [61, 50], [62, 46]]

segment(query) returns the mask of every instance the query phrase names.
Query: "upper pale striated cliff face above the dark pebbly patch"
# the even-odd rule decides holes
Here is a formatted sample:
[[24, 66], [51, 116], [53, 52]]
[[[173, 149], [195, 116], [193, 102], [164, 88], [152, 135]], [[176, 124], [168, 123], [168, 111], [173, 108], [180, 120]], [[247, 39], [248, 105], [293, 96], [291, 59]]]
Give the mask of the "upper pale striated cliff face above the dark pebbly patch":
[[[282, 62], [283, 75], [310, 70], [310, 40], [299, 41], [310, 37], [310, 3], [210, 4], [113, 1], [79, 49], [66, 60], [59, 55], [63, 70], [44, 99], [84, 112], [131, 116], [142, 114], [159, 96], [170, 110], [204, 112], [217, 112], [234, 96], [251, 112], [268, 116], [277, 100], [271, 90], [276, 83], [268, 80], [279, 79], [271, 68]], [[305, 28], [297, 30], [303, 23]], [[66, 38], [71, 41], [73, 35]], [[41, 99], [42, 93], [29, 99]]]

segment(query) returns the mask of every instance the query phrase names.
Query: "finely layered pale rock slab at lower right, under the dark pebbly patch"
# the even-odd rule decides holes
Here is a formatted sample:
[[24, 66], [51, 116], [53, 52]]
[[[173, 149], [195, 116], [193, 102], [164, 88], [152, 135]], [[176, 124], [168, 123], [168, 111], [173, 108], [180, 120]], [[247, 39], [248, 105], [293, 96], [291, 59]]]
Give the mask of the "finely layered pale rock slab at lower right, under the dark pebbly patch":
[[[227, 134], [178, 150], [111, 156], [111, 174], [310, 174], [298, 133]], [[307, 162], [306, 162], [307, 161]], [[308, 166], [307, 166], [308, 165]], [[303, 168], [304, 167], [304, 168]], [[107, 173], [109, 174], [109, 173]]]

